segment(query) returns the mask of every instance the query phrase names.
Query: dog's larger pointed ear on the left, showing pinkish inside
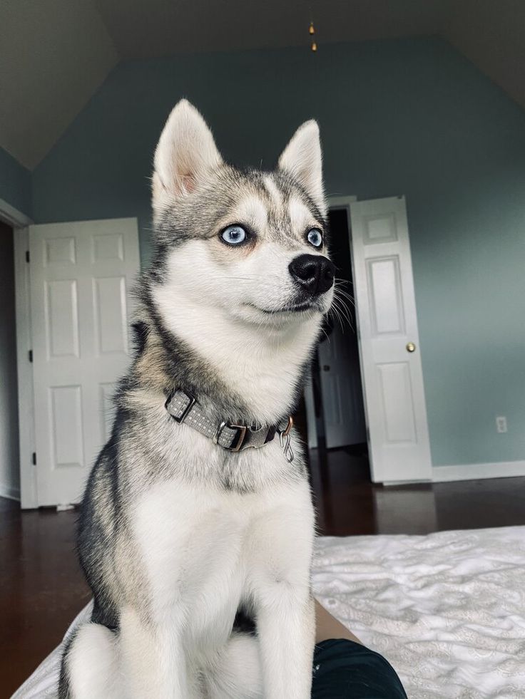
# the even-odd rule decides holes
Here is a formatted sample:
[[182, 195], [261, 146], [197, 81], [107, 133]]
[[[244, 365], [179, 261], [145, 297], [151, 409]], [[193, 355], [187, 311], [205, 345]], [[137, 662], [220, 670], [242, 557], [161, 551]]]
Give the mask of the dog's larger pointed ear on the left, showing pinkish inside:
[[155, 151], [153, 205], [185, 197], [223, 162], [205, 120], [188, 100], [171, 111]]

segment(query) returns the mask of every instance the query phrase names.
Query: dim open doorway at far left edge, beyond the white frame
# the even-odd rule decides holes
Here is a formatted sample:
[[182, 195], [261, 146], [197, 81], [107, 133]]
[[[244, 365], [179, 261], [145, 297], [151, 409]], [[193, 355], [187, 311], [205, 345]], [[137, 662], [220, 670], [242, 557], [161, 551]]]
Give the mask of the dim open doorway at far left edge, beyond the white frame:
[[13, 229], [0, 220], [0, 496], [20, 497]]

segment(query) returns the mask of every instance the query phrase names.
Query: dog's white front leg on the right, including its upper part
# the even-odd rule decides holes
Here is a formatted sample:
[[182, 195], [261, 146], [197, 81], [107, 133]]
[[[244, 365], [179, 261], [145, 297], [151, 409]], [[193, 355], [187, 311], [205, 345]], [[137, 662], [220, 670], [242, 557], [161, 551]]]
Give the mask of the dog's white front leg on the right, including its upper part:
[[[307, 482], [282, 487], [250, 530], [248, 570], [265, 699], [310, 699], [315, 607], [314, 513]], [[281, 495], [281, 498], [279, 498]], [[280, 499], [280, 502], [279, 502]]]

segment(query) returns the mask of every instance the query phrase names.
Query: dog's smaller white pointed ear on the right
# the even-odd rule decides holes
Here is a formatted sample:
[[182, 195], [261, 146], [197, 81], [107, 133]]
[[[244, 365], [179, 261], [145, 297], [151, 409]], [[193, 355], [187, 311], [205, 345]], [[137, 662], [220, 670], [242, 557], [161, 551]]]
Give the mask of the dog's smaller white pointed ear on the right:
[[282, 151], [279, 169], [292, 175], [321, 211], [325, 211], [322, 152], [317, 121], [306, 121], [297, 129], [290, 143]]

